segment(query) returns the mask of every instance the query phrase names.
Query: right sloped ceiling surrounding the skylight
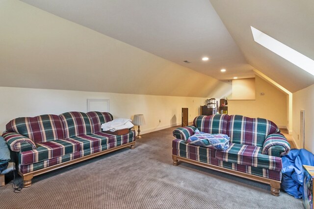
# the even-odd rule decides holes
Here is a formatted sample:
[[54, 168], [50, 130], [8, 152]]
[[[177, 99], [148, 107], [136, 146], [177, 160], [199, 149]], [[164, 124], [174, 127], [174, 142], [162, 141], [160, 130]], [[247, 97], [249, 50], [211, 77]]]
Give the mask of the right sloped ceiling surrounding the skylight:
[[290, 92], [314, 83], [313, 75], [254, 42], [250, 29], [250, 26], [253, 26], [314, 59], [313, 0], [210, 0], [210, 2], [249, 64]]

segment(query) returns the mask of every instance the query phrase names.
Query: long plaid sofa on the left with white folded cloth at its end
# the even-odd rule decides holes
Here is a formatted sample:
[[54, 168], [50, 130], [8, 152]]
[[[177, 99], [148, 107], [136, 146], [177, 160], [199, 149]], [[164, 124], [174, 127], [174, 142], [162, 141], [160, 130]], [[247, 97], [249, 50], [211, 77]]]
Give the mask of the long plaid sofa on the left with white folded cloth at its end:
[[2, 136], [16, 154], [18, 172], [28, 187], [33, 176], [124, 147], [134, 149], [135, 131], [102, 132], [101, 125], [112, 119], [108, 112], [95, 111], [21, 117], [6, 124]]

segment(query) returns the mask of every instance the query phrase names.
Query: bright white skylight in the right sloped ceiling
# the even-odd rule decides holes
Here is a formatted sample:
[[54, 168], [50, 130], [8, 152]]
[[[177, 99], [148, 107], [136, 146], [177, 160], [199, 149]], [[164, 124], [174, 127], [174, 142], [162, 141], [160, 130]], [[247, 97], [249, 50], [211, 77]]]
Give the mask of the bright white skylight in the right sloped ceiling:
[[314, 75], [314, 60], [251, 26], [254, 41]]

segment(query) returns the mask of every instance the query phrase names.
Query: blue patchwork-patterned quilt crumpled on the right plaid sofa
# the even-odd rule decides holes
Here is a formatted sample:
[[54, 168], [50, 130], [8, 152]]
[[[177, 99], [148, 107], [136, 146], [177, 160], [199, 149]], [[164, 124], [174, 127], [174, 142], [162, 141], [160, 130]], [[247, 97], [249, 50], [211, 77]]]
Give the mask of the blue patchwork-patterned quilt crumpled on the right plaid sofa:
[[229, 147], [230, 137], [226, 134], [204, 133], [196, 129], [195, 134], [188, 137], [189, 144], [213, 148], [215, 150], [226, 150]]

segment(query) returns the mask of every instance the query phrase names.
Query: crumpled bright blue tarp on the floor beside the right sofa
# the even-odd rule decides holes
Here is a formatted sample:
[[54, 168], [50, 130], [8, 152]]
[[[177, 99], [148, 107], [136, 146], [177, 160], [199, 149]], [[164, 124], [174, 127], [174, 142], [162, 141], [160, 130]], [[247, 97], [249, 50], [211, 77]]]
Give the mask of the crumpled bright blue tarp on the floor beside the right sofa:
[[281, 188], [295, 198], [302, 198], [303, 168], [302, 165], [314, 166], [314, 155], [305, 149], [292, 149], [282, 157], [283, 178]]

